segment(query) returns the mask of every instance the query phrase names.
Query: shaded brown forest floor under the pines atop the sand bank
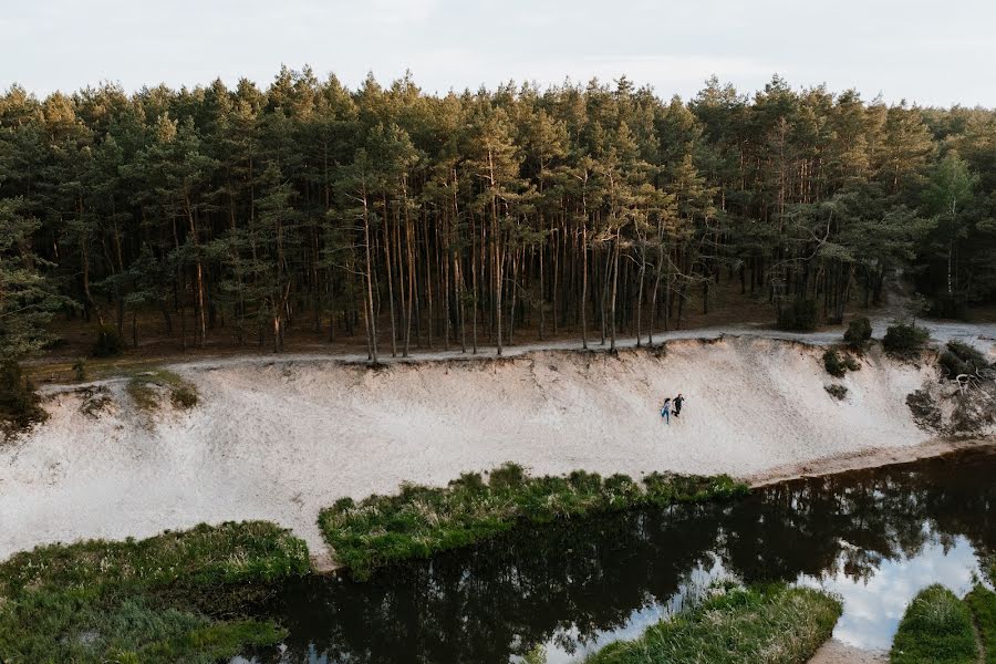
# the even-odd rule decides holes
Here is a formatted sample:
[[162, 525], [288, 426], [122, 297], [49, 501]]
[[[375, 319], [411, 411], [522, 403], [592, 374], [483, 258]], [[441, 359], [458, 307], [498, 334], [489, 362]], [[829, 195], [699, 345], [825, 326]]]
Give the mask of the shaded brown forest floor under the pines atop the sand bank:
[[[902, 307], [904, 294], [892, 293], [888, 304], [864, 308], [854, 303], [845, 311], [844, 319], [858, 315], [867, 315], [874, 322], [875, 336], [881, 338], [889, 323], [904, 314]], [[105, 320], [114, 318], [114, 311], [104, 311]], [[188, 312], [189, 314], [189, 312]], [[645, 317], [649, 318], [649, 317]], [[643, 344], [647, 343], [646, 326], [650, 320], [643, 321]], [[100, 380], [114, 375], [126, 375], [136, 371], [145, 371], [156, 366], [172, 363], [187, 363], [199, 361], [231, 360], [235, 357], [249, 357], [255, 361], [259, 356], [274, 356], [272, 341], [264, 339], [259, 342], [255, 335], [249, 335], [245, 344], [237, 343], [231, 325], [221, 325], [208, 330], [207, 342], [194, 345], [188, 339], [184, 349], [179, 339], [179, 320], [174, 314], [173, 333], [167, 332], [163, 315], [155, 311], [143, 311], [137, 317], [136, 347], [132, 347], [131, 313], [124, 320], [124, 341], [127, 349], [122, 355], [114, 357], [89, 357], [96, 338], [96, 322], [83, 323], [81, 320], [58, 319], [53, 321], [52, 332], [61, 342], [40, 357], [25, 363], [29, 375], [37, 384], [72, 383], [74, 382], [73, 364], [80, 357], [86, 359], [87, 380]], [[191, 321], [187, 321], [189, 326]], [[772, 339], [791, 339], [807, 343], [828, 344], [841, 340], [844, 325], [824, 325], [813, 333], [790, 333], [776, 330], [774, 326], [774, 311], [766, 298], [759, 293], [741, 294], [739, 283], [724, 281], [714, 286], [709, 298], [709, 312], [703, 313], [701, 293], [689, 297], [684, 310], [678, 329], [663, 331], [663, 321], [658, 321], [653, 335], [654, 343], [674, 339], [709, 339], [722, 334], [757, 334]], [[968, 322], [962, 321], [930, 321], [927, 324], [934, 338], [941, 342], [948, 339], [967, 341], [977, 347], [987, 350], [996, 343], [996, 308], [979, 308], [971, 312]], [[671, 321], [674, 328], [676, 321]], [[468, 328], [466, 335], [466, 352], [460, 350], [460, 340], [456, 335], [449, 340], [449, 350], [444, 349], [444, 339], [436, 325], [435, 334], [428, 339], [425, 330], [413, 328], [412, 346], [409, 357], [440, 359], [473, 355], [471, 334]], [[589, 321], [589, 347], [603, 349], [609, 345], [609, 340], [602, 343], [601, 330], [598, 320]], [[284, 352], [280, 356], [299, 357], [338, 357], [344, 360], [366, 360], [366, 339], [363, 333], [362, 322], [354, 326], [353, 334], [345, 335], [340, 322], [333, 340], [329, 339], [329, 321], [322, 321], [319, 330], [315, 330], [313, 319], [301, 317], [294, 321], [288, 333]], [[378, 321], [380, 360], [388, 362], [392, 359], [391, 328], [384, 317]], [[619, 347], [632, 347], [636, 345], [633, 333], [634, 323], [630, 321], [627, 326], [620, 331], [616, 340]], [[188, 331], [189, 335], [189, 331]], [[495, 340], [489, 335], [486, 324], [478, 329], [478, 355], [495, 355]], [[513, 343], [508, 343], [504, 349], [505, 355], [521, 354], [542, 349], [572, 350], [581, 347], [581, 328], [573, 317], [568, 315], [561, 320], [561, 324], [553, 325], [553, 315], [548, 314], [544, 332], [539, 334], [539, 320], [531, 317], [528, 324], [519, 325], [515, 330]], [[396, 344], [397, 359], [402, 355], [402, 344]]]

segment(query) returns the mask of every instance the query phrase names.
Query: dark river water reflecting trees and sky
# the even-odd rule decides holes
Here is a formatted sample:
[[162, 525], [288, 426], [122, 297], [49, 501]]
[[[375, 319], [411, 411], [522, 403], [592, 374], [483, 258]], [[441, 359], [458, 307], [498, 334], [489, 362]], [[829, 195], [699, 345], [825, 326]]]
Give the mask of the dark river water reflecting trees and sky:
[[717, 578], [820, 585], [844, 600], [834, 634], [888, 649], [906, 602], [967, 591], [996, 549], [996, 453], [947, 457], [679, 506], [523, 528], [365, 583], [309, 579], [267, 608], [280, 650], [237, 662], [509, 662], [544, 644], [570, 662], [634, 637]]

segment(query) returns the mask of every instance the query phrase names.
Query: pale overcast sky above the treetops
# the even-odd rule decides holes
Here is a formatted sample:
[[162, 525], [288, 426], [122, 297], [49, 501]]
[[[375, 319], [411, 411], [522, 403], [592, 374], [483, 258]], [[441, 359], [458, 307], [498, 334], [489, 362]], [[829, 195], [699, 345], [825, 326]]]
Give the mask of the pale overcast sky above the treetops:
[[2, 0], [0, 89], [266, 86], [308, 64], [351, 87], [406, 70], [429, 93], [625, 74], [688, 98], [714, 74], [754, 92], [777, 73], [996, 107], [994, 27], [992, 0]]

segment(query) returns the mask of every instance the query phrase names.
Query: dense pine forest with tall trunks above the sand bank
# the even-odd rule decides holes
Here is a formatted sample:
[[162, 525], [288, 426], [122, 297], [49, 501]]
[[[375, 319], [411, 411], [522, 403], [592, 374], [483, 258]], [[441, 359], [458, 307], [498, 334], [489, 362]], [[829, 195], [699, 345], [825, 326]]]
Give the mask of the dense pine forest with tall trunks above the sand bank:
[[839, 321], [899, 271], [954, 313], [996, 292], [994, 186], [994, 112], [779, 77], [687, 103], [624, 77], [438, 96], [308, 69], [267, 90], [14, 86], [0, 332], [61, 308], [137, 344], [156, 311], [184, 346], [310, 329], [365, 334], [373, 359], [500, 353], [525, 326], [653, 341], [720, 280]]

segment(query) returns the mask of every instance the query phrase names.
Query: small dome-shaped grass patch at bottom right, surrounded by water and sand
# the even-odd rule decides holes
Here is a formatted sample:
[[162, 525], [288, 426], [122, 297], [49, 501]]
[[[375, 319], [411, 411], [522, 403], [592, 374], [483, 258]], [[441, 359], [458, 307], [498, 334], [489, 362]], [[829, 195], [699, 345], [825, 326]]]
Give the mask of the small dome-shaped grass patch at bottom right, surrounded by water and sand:
[[974, 664], [978, 645], [968, 606], [943, 585], [920, 591], [906, 606], [889, 653], [892, 664]]

